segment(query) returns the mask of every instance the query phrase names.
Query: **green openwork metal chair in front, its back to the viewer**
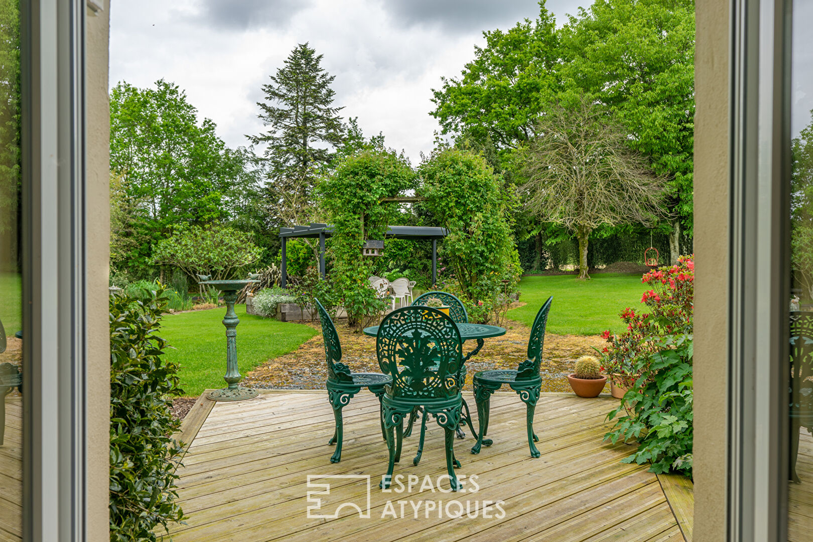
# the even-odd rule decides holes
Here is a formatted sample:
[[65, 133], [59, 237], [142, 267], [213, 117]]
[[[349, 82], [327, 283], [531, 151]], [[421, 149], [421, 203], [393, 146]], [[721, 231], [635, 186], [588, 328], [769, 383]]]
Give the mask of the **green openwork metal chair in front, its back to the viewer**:
[[431, 414], [446, 431], [446, 470], [452, 491], [457, 491], [454, 467], [460, 463], [454, 457], [454, 429], [463, 409], [456, 376], [463, 362], [463, 342], [457, 324], [429, 307], [394, 310], [378, 327], [376, 353], [381, 371], [393, 379], [381, 400], [389, 465], [380, 487], [389, 488], [395, 462], [401, 460], [404, 417], [422, 406], [424, 419]]

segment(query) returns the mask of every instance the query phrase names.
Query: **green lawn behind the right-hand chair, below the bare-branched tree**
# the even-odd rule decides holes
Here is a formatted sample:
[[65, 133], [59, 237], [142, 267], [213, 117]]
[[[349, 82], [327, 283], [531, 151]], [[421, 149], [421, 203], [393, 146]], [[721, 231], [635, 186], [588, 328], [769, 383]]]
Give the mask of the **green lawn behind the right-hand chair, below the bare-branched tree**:
[[605, 329], [624, 332], [618, 317], [625, 307], [641, 306], [645, 284], [637, 273], [596, 273], [591, 280], [575, 275], [526, 276], [520, 281], [520, 301], [526, 305], [508, 311], [508, 318], [533, 325], [539, 307], [554, 297], [547, 331], [557, 335], [597, 335]]

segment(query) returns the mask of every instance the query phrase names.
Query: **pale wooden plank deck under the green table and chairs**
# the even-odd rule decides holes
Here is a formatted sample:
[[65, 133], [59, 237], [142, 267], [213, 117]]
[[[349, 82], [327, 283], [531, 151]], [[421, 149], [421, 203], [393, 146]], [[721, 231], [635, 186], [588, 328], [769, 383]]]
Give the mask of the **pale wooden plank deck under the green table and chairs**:
[[[474, 405], [470, 394], [467, 401]], [[333, 412], [324, 391], [268, 392], [239, 403], [202, 400], [183, 428], [192, 440], [179, 470], [180, 502], [188, 518], [172, 527], [172, 540], [691, 540], [690, 518], [685, 518], [690, 484], [659, 480], [647, 466], [620, 463], [629, 446], [602, 444], [613, 405], [615, 400], [606, 397], [543, 394], [535, 421], [542, 457], [533, 459], [525, 440], [524, 404], [513, 392], [498, 392], [489, 427], [493, 446], [475, 456], [469, 453], [470, 436], [455, 440], [463, 463], [458, 475], [466, 480], [476, 475], [479, 490], [467, 483], [468, 492], [446, 492], [448, 481], [441, 478], [444, 492], [437, 491], [446, 462], [443, 431], [433, 423], [419, 466], [411, 462], [417, 435], [404, 440], [394, 475], [414, 475], [415, 487], [399, 493], [378, 488], [387, 450], [371, 393], [360, 393], [344, 410], [345, 443], [337, 464], [328, 461]], [[351, 502], [367, 512], [367, 475], [369, 517], [349, 505], [339, 508]], [[330, 484], [329, 494], [320, 492], [320, 483]], [[674, 513], [664, 488], [678, 496]], [[311, 516], [337, 517], [309, 518], [309, 505]], [[461, 510], [463, 516], [454, 517]], [[680, 521], [675, 514], [683, 514]]]

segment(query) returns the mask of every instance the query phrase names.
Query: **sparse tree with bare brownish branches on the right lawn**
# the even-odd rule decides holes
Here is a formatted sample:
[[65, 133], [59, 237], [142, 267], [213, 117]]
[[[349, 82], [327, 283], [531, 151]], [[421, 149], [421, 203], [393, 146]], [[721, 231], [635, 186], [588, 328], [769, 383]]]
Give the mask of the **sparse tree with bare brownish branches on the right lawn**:
[[627, 131], [601, 106], [581, 98], [575, 106], [550, 106], [525, 155], [528, 179], [520, 188], [526, 209], [558, 223], [579, 240], [579, 278], [587, 273], [590, 232], [663, 216], [666, 179], [630, 149]]

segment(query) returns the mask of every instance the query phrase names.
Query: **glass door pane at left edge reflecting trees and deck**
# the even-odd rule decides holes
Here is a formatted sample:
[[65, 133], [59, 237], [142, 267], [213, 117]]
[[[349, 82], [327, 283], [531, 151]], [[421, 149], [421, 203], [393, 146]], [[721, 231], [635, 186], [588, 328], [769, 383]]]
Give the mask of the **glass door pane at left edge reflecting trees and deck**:
[[20, 10], [0, 0], [0, 540], [22, 540]]

